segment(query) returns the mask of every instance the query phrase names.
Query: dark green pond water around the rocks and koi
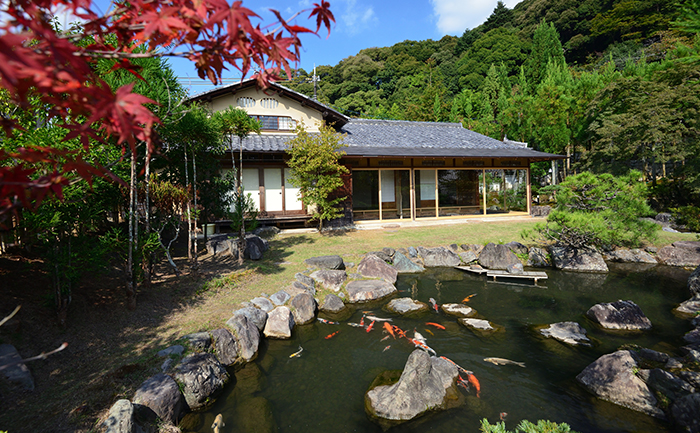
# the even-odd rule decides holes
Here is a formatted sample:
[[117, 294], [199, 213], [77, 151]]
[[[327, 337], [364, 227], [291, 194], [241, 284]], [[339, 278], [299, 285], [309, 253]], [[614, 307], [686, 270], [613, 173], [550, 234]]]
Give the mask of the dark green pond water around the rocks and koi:
[[[548, 419], [566, 422], [581, 433], [671, 431], [667, 423], [593, 398], [578, 385], [575, 376], [599, 356], [623, 344], [676, 355], [690, 324], [674, 317], [672, 309], [688, 298], [689, 272], [665, 266], [618, 265], [612, 266], [608, 274], [547, 273], [549, 280], [539, 286], [490, 282], [483, 276], [454, 269], [399, 276], [399, 296], [426, 303], [431, 297], [439, 304], [458, 303], [476, 293], [469, 305], [480, 316], [505, 326], [506, 332], [483, 338], [443, 313], [408, 319], [373, 306], [375, 315], [393, 318], [393, 323], [406, 331], [418, 330], [438, 355], [472, 370], [481, 383], [480, 398], [472, 390], [465, 393], [466, 405], [392, 431], [478, 432], [481, 419], [494, 423], [501, 412], [508, 414], [509, 429], [523, 419]], [[618, 299], [636, 302], [653, 329], [611, 334], [585, 318], [594, 304]], [[226, 423], [222, 433], [381, 432], [365, 414], [365, 392], [382, 371], [403, 369], [414, 348], [404, 339], [380, 341], [385, 334], [377, 324], [369, 333], [346, 324], [359, 322], [361, 316], [358, 310], [340, 325], [314, 322], [295, 328], [291, 340], [265, 341], [258, 360], [236, 372], [235, 381], [211, 409], [190, 416], [189, 431], [211, 432], [214, 417], [221, 413]], [[594, 340], [593, 347], [572, 348], [543, 339], [532, 330], [536, 325], [561, 321], [576, 321], [586, 328]], [[425, 322], [436, 322], [446, 329], [426, 326]], [[338, 330], [333, 338], [324, 338]], [[391, 347], [384, 351], [388, 345]], [[299, 346], [304, 349], [302, 355], [290, 359]], [[486, 357], [524, 362], [526, 368], [496, 366], [485, 362]]]

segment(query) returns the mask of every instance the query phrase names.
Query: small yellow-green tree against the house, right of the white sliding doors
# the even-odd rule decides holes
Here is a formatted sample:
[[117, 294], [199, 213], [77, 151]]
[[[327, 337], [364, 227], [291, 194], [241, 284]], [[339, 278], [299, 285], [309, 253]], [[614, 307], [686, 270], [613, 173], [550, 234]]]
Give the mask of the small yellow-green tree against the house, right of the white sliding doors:
[[289, 182], [299, 188], [304, 206], [314, 209], [311, 220], [317, 220], [322, 231], [323, 221], [342, 216], [338, 204], [346, 197], [334, 193], [343, 186], [341, 175], [348, 173], [348, 169], [339, 162], [345, 154], [340, 150], [342, 134], [325, 124], [319, 132], [311, 134], [303, 124], [297, 126], [297, 136], [288, 143], [287, 165], [291, 169]]

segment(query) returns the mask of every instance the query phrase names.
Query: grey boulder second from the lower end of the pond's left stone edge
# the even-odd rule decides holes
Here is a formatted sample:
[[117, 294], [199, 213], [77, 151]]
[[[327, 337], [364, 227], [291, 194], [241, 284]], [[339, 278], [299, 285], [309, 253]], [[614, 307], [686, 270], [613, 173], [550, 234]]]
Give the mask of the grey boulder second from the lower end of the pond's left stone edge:
[[185, 398], [177, 382], [163, 373], [146, 379], [136, 390], [132, 400], [150, 408], [166, 424], [177, 425], [187, 411]]

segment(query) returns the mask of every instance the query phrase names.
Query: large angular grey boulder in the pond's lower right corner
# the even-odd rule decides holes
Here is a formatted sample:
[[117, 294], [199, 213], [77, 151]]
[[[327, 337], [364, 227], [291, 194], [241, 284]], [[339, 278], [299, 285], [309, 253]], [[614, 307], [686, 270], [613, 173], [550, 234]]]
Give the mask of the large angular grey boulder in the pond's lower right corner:
[[665, 418], [656, 407], [656, 397], [634, 372], [639, 368], [632, 352], [618, 350], [603, 355], [586, 367], [576, 380], [600, 399], [657, 418]]

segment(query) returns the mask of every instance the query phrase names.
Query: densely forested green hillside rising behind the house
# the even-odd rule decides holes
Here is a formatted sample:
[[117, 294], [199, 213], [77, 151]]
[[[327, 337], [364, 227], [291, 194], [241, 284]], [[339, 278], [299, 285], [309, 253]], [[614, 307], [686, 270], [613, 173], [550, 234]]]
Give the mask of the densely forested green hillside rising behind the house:
[[[317, 97], [351, 117], [462, 122], [572, 155], [571, 169], [673, 174], [697, 200], [697, 170], [687, 167], [700, 162], [698, 4], [499, 2], [461, 37], [367, 48], [318, 67]], [[284, 84], [313, 95], [312, 71], [298, 72]]]

